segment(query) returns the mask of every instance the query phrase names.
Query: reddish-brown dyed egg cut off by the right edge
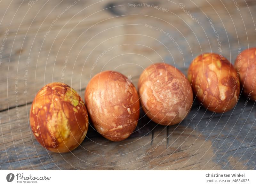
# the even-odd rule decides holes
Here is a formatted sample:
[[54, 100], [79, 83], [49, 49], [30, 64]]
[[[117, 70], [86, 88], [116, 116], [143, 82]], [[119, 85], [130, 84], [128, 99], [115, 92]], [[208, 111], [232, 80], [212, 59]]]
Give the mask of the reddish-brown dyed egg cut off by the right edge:
[[236, 57], [235, 68], [240, 77], [243, 94], [256, 100], [256, 48], [243, 50]]

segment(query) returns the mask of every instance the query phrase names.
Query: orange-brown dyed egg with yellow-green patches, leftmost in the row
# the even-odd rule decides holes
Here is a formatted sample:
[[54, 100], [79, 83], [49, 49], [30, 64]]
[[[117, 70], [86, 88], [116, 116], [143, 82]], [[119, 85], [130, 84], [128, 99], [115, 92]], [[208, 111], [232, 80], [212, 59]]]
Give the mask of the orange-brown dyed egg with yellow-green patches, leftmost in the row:
[[36, 140], [46, 149], [68, 152], [83, 142], [88, 130], [88, 114], [74, 89], [53, 82], [36, 94], [30, 109], [30, 126]]

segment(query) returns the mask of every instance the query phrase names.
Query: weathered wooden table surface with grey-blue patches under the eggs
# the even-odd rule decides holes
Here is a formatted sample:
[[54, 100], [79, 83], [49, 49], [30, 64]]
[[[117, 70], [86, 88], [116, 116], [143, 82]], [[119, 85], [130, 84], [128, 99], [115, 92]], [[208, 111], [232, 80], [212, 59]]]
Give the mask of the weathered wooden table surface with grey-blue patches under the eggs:
[[44, 149], [29, 126], [33, 98], [52, 81], [84, 97], [90, 78], [103, 70], [131, 75], [137, 87], [152, 63], [186, 74], [193, 58], [211, 51], [234, 63], [239, 51], [256, 47], [255, 18], [255, 0], [1, 0], [1, 169], [255, 170], [256, 109], [244, 96], [213, 117], [194, 101], [188, 117], [169, 127], [141, 111], [122, 142], [89, 127], [81, 146], [63, 154]]

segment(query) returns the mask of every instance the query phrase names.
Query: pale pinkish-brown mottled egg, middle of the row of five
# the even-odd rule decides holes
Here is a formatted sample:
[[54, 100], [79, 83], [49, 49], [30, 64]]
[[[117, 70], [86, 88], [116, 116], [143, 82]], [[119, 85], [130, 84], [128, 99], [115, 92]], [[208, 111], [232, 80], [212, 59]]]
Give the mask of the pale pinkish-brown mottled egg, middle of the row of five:
[[191, 109], [191, 86], [177, 68], [158, 63], [147, 67], [139, 79], [139, 96], [143, 111], [156, 123], [180, 123]]

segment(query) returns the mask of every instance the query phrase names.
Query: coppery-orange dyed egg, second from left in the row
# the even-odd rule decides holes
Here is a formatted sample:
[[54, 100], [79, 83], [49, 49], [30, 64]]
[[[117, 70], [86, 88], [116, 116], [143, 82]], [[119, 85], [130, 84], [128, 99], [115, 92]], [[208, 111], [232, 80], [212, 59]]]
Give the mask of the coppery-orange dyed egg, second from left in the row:
[[94, 128], [105, 138], [121, 141], [136, 128], [140, 102], [131, 78], [115, 71], [96, 74], [84, 99]]

